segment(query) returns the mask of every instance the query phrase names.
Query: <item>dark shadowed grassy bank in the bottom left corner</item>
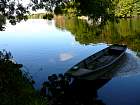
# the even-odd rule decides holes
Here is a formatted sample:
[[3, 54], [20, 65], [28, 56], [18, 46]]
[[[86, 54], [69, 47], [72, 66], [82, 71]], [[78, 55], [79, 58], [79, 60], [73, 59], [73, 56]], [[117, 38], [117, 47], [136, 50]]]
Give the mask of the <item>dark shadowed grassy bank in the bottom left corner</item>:
[[22, 65], [13, 63], [10, 53], [4, 53], [0, 52], [0, 105], [47, 105], [34, 89], [31, 77], [21, 70]]

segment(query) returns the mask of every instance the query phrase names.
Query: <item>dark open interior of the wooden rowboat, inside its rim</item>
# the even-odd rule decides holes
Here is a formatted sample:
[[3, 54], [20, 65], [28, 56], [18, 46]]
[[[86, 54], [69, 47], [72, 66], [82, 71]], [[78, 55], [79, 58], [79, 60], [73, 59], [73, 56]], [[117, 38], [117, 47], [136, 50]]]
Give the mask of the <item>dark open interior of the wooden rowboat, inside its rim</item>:
[[102, 51], [89, 56], [87, 59], [81, 61], [75, 65], [72, 69], [89, 69], [95, 70], [97, 68], [108, 65], [116, 57], [118, 57], [124, 51], [123, 47], [112, 47], [103, 49]]

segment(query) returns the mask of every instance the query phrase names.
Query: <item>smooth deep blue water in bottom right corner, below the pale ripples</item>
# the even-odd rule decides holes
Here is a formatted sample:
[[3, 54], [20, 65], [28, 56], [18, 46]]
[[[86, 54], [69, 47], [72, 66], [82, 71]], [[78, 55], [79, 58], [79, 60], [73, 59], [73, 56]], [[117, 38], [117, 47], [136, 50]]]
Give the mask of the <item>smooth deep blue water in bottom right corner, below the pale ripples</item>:
[[99, 99], [106, 105], [139, 105], [140, 76], [117, 77], [98, 90]]

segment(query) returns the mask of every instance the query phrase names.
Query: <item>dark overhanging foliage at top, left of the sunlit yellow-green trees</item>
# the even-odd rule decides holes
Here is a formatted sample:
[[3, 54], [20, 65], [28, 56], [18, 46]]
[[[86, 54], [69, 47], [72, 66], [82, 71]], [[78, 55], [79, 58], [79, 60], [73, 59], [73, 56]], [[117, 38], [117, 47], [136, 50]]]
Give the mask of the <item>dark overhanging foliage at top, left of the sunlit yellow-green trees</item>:
[[89, 16], [97, 21], [99, 18], [104, 22], [113, 16], [113, 0], [78, 0], [81, 14]]

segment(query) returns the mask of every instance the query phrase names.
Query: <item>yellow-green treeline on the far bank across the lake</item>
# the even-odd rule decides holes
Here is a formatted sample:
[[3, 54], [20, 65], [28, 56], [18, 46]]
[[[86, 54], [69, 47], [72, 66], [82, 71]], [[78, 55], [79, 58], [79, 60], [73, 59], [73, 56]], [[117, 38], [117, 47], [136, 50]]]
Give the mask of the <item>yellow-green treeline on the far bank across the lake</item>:
[[[55, 15], [67, 16], [91, 16], [93, 18], [112, 16], [124, 18], [140, 15], [140, 0], [70, 0], [55, 8]], [[43, 18], [41, 15], [31, 15], [30, 17]]]

